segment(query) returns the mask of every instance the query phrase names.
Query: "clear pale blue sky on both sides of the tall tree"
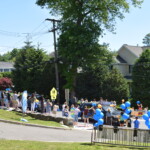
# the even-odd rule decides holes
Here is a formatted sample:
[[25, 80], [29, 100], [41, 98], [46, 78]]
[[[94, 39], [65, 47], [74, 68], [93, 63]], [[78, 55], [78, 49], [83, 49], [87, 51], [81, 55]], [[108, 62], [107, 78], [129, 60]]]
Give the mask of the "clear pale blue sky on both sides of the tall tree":
[[[13, 48], [22, 48], [25, 41], [39, 44], [47, 53], [54, 50], [52, 23], [45, 21], [51, 16], [47, 9], [35, 4], [36, 0], [0, 1], [0, 54]], [[109, 44], [109, 49], [117, 51], [123, 44], [143, 46], [144, 36], [150, 33], [150, 0], [144, 0], [141, 8], [131, 7], [123, 20], [116, 20], [116, 34], [105, 31], [100, 44]]]

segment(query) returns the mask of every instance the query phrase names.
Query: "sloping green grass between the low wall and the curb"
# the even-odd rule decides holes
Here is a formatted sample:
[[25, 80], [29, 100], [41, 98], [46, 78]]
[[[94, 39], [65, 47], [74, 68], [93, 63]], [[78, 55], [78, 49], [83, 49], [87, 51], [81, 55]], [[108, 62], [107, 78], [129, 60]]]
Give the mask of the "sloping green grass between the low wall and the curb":
[[[27, 115], [22, 117], [22, 113], [20, 113], [20, 112], [6, 111], [3, 109], [0, 109], [0, 119], [22, 122], [22, 121], [20, 121], [21, 118], [28, 120], [27, 123], [30, 123], [30, 124], [62, 127], [60, 123], [57, 123], [54, 121], [38, 120], [38, 119], [32, 118], [32, 117], [27, 116]], [[22, 123], [26, 124], [25, 122], [22, 122]]]

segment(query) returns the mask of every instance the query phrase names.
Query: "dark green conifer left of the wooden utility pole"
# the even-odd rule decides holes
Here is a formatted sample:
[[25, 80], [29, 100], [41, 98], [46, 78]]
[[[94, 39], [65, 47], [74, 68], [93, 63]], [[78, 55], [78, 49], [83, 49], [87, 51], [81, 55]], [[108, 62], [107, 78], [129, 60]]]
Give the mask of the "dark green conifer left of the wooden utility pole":
[[[42, 49], [25, 46], [20, 49], [13, 70], [13, 83], [17, 91], [40, 91], [42, 71], [47, 55]], [[44, 80], [43, 80], [44, 81]]]

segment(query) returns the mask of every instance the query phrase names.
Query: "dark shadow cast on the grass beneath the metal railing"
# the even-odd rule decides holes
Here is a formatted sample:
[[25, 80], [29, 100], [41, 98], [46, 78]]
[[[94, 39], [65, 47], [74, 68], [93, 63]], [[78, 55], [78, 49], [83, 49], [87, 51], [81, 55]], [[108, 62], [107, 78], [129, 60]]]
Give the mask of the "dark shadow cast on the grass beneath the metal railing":
[[112, 148], [112, 147], [116, 147], [116, 148], [128, 148], [128, 149], [131, 149], [131, 150], [149, 150], [150, 147], [135, 147], [135, 146], [122, 146], [122, 145], [112, 145], [112, 144], [98, 144], [98, 143], [95, 143], [95, 144], [91, 144], [91, 143], [81, 143], [80, 145], [86, 145], [86, 146], [103, 146], [103, 147], [107, 147], [107, 148]]

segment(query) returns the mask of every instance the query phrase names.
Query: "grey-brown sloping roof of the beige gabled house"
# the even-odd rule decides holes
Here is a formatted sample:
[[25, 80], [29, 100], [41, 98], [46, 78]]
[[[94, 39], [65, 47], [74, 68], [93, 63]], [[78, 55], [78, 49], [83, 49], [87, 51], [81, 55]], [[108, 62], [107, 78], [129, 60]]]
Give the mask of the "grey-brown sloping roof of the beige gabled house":
[[131, 51], [137, 57], [140, 57], [140, 55], [143, 52], [143, 48], [140, 46], [131, 46], [131, 45], [127, 45], [127, 44], [124, 44], [123, 46], [126, 47], [129, 51]]

